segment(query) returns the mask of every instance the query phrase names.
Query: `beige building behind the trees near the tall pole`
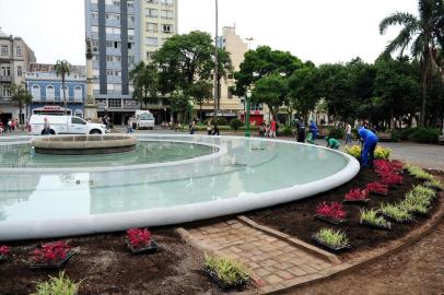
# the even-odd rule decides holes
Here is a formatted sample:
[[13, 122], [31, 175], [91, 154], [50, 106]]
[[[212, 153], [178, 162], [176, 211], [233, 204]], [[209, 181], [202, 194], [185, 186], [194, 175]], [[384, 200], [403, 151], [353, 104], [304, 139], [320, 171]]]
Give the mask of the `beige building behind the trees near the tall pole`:
[[[239, 71], [239, 66], [244, 61], [244, 55], [248, 50], [246, 44], [241, 36], [236, 35], [236, 28], [232, 26], [224, 26], [222, 28], [222, 36], [219, 38], [219, 46], [230, 52], [230, 58], [233, 64], [233, 72]], [[235, 83], [233, 73], [229, 73], [226, 80], [221, 79], [219, 90], [220, 105], [218, 116], [223, 116], [227, 119], [239, 117], [244, 111], [244, 98], [234, 96], [230, 92], [230, 86]], [[214, 92], [213, 92], [214, 93]], [[198, 117], [199, 106], [195, 105], [195, 117]], [[203, 117], [213, 116], [214, 101], [208, 101], [202, 105]]]

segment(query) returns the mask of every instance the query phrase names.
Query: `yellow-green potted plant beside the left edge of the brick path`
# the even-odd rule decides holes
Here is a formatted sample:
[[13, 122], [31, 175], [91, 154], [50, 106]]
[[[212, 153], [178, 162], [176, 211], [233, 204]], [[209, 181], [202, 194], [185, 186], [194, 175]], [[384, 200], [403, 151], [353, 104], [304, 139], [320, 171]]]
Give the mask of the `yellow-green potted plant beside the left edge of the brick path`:
[[222, 288], [239, 287], [249, 280], [247, 268], [227, 257], [205, 257], [203, 271]]

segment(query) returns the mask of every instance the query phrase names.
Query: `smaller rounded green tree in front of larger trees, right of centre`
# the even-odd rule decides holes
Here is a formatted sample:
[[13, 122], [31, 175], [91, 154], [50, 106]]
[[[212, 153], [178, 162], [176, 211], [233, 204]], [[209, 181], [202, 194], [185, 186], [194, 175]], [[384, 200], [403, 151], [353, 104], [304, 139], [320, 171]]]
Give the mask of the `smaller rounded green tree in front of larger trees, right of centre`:
[[253, 102], [266, 104], [276, 118], [278, 107], [283, 104], [288, 93], [287, 81], [279, 73], [265, 75], [255, 83]]

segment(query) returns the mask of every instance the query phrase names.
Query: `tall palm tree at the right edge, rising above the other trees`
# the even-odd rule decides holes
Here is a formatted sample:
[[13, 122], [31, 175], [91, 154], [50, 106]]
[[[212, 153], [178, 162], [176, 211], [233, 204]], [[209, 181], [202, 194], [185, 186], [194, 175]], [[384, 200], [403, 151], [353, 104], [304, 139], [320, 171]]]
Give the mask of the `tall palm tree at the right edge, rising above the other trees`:
[[379, 23], [384, 34], [390, 25], [401, 25], [398, 36], [386, 47], [384, 54], [400, 50], [400, 56], [410, 46], [411, 56], [421, 64], [422, 104], [420, 126], [425, 125], [427, 87], [431, 76], [432, 51], [436, 50], [437, 38], [443, 35], [444, 3], [440, 0], [419, 0], [419, 16], [407, 12], [395, 12]]

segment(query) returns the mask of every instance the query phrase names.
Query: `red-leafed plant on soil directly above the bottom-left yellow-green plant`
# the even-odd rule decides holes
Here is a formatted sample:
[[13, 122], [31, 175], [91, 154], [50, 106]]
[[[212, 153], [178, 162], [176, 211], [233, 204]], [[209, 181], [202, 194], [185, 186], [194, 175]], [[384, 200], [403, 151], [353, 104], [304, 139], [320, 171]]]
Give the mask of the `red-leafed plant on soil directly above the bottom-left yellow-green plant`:
[[39, 249], [31, 252], [31, 255], [35, 263], [55, 264], [63, 260], [70, 250], [71, 246], [69, 246], [68, 243], [59, 240], [44, 244]]

